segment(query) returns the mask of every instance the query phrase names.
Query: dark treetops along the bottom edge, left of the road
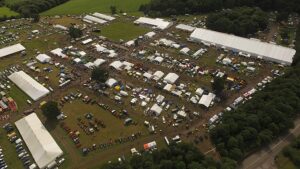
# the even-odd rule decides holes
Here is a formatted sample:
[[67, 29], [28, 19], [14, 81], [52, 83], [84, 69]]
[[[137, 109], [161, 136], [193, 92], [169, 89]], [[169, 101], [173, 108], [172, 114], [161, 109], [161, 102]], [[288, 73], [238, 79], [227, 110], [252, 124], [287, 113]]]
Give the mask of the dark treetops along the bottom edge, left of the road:
[[103, 169], [233, 169], [237, 164], [233, 160], [223, 158], [217, 162], [205, 157], [191, 144], [170, 145], [153, 152], [134, 155], [129, 161], [107, 164]]

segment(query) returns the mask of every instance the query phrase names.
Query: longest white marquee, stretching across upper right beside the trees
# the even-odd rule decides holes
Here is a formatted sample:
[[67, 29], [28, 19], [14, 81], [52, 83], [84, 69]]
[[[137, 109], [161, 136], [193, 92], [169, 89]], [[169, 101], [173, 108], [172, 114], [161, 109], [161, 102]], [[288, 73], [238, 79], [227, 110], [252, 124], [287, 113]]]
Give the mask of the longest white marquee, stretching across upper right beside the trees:
[[195, 29], [190, 39], [286, 65], [292, 63], [296, 54], [296, 50], [291, 48], [202, 28]]

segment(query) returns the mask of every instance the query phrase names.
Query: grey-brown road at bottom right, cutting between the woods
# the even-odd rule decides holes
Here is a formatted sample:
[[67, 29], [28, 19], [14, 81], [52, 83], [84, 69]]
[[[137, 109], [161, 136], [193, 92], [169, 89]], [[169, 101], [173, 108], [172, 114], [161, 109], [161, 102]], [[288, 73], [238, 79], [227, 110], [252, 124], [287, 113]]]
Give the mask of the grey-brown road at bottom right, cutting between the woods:
[[263, 150], [247, 157], [241, 164], [241, 169], [277, 169], [274, 158], [280, 151], [300, 135], [300, 119], [295, 121], [295, 127], [289, 133]]

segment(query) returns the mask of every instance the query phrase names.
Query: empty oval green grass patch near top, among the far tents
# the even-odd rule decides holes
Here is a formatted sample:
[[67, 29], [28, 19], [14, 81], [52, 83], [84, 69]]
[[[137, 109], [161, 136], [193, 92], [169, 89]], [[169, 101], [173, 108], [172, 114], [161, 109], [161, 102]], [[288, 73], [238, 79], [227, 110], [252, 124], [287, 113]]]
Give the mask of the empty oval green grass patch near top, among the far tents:
[[128, 41], [149, 31], [150, 30], [148, 28], [121, 21], [111, 23], [110, 25], [101, 28], [101, 35], [113, 41], [119, 41], [120, 39]]

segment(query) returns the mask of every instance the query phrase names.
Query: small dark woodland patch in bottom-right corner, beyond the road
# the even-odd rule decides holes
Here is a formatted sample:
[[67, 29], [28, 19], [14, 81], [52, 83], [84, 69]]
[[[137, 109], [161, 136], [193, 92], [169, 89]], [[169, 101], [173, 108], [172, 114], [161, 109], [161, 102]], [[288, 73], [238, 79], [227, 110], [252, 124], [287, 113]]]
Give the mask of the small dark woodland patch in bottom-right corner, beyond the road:
[[295, 166], [300, 166], [300, 136], [283, 149], [283, 155], [289, 158]]

